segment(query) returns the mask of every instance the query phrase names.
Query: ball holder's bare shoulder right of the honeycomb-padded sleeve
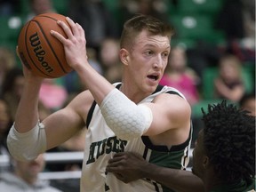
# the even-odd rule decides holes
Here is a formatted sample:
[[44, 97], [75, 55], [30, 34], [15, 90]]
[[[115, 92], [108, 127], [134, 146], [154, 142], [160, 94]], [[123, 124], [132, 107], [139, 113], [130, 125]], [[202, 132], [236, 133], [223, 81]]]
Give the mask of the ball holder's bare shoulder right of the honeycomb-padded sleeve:
[[148, 136], [155, 145], [179, 145], [188, 140], [191, 108], [187, 100], [176, 94], [163, 93], [149, 105], [153, 123]]

